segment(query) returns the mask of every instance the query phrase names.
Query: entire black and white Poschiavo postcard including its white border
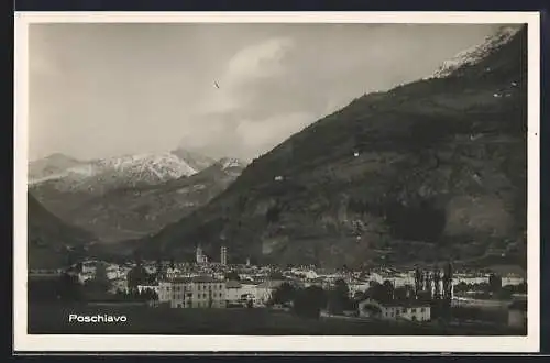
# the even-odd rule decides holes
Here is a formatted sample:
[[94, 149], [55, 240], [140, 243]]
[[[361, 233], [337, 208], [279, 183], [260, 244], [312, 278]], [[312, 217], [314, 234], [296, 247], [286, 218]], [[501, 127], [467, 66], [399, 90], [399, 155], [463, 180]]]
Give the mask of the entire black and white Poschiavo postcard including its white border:
[[19, 15], [21, 346], [538, 349], [537, 13]]

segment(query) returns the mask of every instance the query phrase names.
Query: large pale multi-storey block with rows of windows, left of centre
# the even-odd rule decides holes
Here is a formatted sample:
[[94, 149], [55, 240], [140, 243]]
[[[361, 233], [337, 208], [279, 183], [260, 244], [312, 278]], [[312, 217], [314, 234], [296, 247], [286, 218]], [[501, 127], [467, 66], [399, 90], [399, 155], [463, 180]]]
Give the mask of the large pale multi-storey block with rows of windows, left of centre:
[[173, 308], [224, 308], [226, 284], [210, 276], [177, 277], [160, 283], [158, 301]]

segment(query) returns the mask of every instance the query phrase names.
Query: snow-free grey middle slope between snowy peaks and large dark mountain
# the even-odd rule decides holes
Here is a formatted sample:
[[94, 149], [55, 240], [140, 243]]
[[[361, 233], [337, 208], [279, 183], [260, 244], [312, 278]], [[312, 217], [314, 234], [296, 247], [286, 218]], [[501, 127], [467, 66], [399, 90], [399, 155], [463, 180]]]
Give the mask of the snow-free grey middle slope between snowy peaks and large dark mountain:
[[224, 158], [189, 177], [112, 189], [67, 210], [67, 220], [103, 242], [155, 233], [223, 191], [244, 166]]

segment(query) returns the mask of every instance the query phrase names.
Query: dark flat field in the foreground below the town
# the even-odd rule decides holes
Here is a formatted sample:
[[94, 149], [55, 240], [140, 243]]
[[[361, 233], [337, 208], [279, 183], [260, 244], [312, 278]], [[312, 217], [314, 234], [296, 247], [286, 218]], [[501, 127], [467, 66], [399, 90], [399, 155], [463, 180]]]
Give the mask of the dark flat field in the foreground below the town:
[[[68, 322], [70, 314], [125, 316], [127, 322]], [[193, 336], [521, 336], [488, 324], [415, 326], [351, 319], [304, 319], [267, 309], [169, 309], [143, 306], [29, 305], [30, 334]]]

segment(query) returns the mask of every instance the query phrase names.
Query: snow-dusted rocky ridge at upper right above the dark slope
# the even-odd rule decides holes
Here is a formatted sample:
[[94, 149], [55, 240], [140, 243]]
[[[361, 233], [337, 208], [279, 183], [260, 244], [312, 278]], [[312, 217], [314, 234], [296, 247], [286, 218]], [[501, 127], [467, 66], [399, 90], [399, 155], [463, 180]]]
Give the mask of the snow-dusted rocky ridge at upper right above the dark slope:
[[441, 67], [429, 78], [448, 77], [464, 66], [479, 63], [488, 54], [497, 51], [501, 46], [508, 43], [520, 29], [520, 25], [506, 25], [498, 28], [494, 34], [485, 37], [481, 44], [466, 48], [458, 53], [451, 59], [443, 62]]

